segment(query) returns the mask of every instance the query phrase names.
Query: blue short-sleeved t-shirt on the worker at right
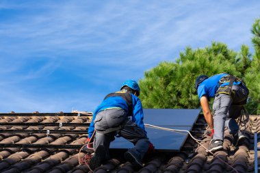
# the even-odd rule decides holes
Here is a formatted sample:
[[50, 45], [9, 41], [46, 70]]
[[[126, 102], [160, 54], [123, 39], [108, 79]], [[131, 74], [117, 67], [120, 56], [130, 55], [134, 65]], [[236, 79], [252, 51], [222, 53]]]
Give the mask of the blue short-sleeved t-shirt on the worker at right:
[[[220, 79], [226, 75], [226, 73], [221, 73], [218, 75], [213, 75], [212, 77], [209, 77], [208, 79], [205, 79], [200, 85], [198, 85], [198, 98], [201, 98], [203, 95], [207, 96], [208, 100], [209, 98], [213, 98], [220, 86], [226, 86], [229, 85], [229, 82], [222, 83], [222, 85], [218, 85], [218, 82]], [[234, 81], [233, 85], [239, 85], [240, 81]]]

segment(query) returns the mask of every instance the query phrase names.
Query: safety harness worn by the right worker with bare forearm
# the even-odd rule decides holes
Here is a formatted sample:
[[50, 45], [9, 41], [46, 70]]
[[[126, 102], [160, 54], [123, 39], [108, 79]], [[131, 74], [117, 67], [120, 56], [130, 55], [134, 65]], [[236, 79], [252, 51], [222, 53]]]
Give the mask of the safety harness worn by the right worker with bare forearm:
[[[218, 96], [219, 94], [228, 94], [229, 96], [231, 96], [231, 98], [233, 98], [235, 96], [235, 92], [232, 90], [234, 81], [241, 82], [243, 85], [246, 85], [243, 79], [240, 79], [233, 75], [226, 75], [222, 77], [218, 82], [220, 88], [218, 88], [218, 91], [216, 92], [216, 96]], [[223, 83], [227, 83], [227, 82], [229, 82], [229, 85], [221, 86]], [[233, 105], [246, 105], [246, 99], [239, 101], [238, 103], [233, 103]]]

